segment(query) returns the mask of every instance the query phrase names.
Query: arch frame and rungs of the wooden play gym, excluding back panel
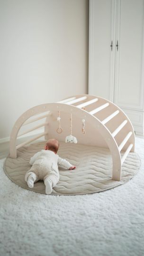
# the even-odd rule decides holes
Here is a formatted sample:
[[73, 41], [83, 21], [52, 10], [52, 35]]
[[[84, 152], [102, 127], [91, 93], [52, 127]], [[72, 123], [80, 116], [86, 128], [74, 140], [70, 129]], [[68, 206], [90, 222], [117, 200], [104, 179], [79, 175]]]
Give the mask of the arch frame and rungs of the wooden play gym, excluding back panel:
[[[72, 105], [72, 104], [78, 103], [80, 101], [82, 102], [81, 104], [79, 104], [77, 106]], [[97, 101], [102, 101], [103, 104], [89, 112], [85, 110], [86, 106], [92, 104], [93, 102], [97, 102]], [[111, 115], [109, 115], [106, 119], [100, 121], [96, 116], [94, 116], [99, 111], [105, 111], [105, 109], [109, 105], [111, 106], [112, 109], [114, 109], [114, 112]], [[57, 103], [46, 103], [46, 104], [38, 105], [36, 107], [33, 107], [33, 108], [27, 110], [24, 114], [22, 114], [18, 118], [18, 120], [16, 121], [16, 123], [12, 129], [11, 136], [10, 136], [10, 157], [16, 158], [17, 157], [17, 149], [20, 148], [21, 146], [24, 146], [24, 145], [36, 140], [39, 137], [45, 136], [45, 138], [46, 138], [46, 136], [47, 136], [47, 133], [48, 133], [47, 121], [45, 121], [45, 123], [43, 123], [42, 125], [39, 125], [33, 129], [30, 129], [27, 131], [27, 132], [29, 132], [36, 128], [45, 126], [44, 133], [17, 146], [16, 140], [18, 137], [18, 131], [21, 128], [21, 126], [23, 126], [24, 123], [26, 124], [27, 119], [31, 118], [32, 116], [34, 116], [36, 114], [40, 114], [40, 113], [43, 113], [46, 111], [49, 111], [49, 114], [51, 114], [53, 111], [57, 111], [57, 110], [60, 110], [65, 113], [74, 113], [76, 116], [80, 116], [82, 119], [86, 119], [87, 123], [89, 123], [91, 126], [96, 128], [97, 130], [99, 130], [99, 133], [106, 141], [108, 148], [112, 155], [112, 161], [113, 161], [112, 179], [120, 181], [121, 180], [121, 166], [124, 163], [128, 153], [130, 151], [134, 152], [134, 150], [135, 150], [135, 132], [134, 132], [134, 129], [133, 129], [133, 126], [132, 126], [130, 120], [127, 118], [126, 114], [120, 108], [118, 108], [115, 104], [113, 104], [112, 102], [110, 102], [106, 99], [103, 99], [100, 97], [95, 97], [92, 95], [87, 95], [87, 94], [76, 95], [76, 96], [72, 96], [69, 99], [65, 99], [65, 100], [57, 102]], [[117, 113], [121, 114], [121, 116], [123, 117], [123, 121], [122, 121], [121, 125], [119, 125], [115, 129], [115, 131], [113, 131], [111, 133], [109, 131], [109, 129], [106, 127], [106, 123], [109, 120], [113, 119], [113, 117], [115, 117], [117, 115]], [[47, 117], [47, 115], [44, 115], [43, 117]], [[41, 118], [39, 118], [39, 119], [41, 119]], [[127, 124], [127, 126], [126, 126], [126, 124]], [[124, 139], [122, 138], [122, 141], [121, 141], [120, 145], [118, 146], [115, 136], [121, 131], [122, 128], [126, 129], [127, 135]], [[126, 145], [126, 143], [128, 141], [129, 141], [129, 145], [124, 150], [124, 155], [121, 157], [120, 152], [124, 148], [124, 146]]]

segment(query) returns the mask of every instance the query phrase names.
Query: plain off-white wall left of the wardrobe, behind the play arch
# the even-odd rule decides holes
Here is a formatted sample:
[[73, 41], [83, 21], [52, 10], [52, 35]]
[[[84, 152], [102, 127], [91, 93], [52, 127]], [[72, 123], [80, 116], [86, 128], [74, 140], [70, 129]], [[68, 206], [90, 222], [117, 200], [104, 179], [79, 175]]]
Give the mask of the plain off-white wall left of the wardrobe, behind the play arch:
[[0, 138], [27, 109], [87, 93], [88, 27], [88, 0], [0, 0]]

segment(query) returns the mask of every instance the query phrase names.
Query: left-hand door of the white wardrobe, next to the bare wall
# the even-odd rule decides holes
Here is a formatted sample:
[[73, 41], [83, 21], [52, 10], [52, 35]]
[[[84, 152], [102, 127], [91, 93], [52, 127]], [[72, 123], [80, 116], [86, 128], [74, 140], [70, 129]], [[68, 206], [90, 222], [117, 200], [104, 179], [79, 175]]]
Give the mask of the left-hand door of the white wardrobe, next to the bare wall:
[[113, 101], [115, 1], [90, 0], [89, 94]]

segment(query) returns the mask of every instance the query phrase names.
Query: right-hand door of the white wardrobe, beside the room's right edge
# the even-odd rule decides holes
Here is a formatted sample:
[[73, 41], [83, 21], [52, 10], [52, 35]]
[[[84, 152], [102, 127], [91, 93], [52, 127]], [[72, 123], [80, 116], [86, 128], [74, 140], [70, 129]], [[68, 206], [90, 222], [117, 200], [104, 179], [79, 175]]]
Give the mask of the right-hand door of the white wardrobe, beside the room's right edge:
[[144, 0], [117, 0], [114, 102], [123, 109], [143, 110]]

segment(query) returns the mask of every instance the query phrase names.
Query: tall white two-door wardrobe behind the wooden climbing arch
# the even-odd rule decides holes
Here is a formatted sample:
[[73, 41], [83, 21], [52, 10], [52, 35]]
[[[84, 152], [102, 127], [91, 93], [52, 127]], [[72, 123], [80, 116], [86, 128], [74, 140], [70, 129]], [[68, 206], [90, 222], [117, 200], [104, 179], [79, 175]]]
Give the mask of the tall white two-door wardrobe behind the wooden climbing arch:
[[90, 0], [89, 94], [125, 111], [144, 134], [144, 0]]

